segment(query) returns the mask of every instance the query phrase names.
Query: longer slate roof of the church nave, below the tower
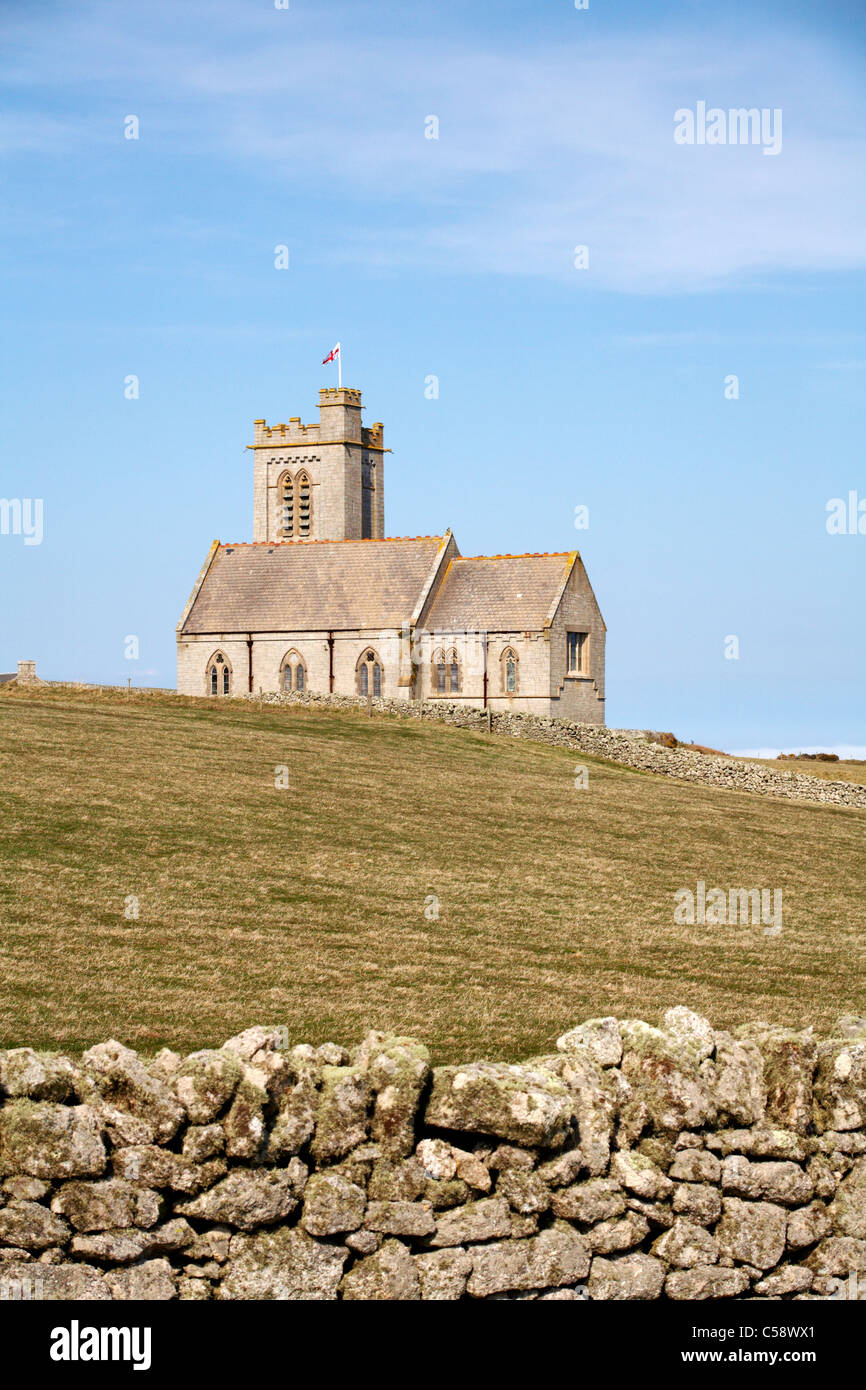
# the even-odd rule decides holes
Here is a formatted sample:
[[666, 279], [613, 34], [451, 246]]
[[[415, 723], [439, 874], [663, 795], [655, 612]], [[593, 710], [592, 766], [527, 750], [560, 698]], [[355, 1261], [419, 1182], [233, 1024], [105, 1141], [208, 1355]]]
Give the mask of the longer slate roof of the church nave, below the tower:
[[442, 541], [423, 535], [221, 545], [181, 631], [400, 627], [418, 602]]

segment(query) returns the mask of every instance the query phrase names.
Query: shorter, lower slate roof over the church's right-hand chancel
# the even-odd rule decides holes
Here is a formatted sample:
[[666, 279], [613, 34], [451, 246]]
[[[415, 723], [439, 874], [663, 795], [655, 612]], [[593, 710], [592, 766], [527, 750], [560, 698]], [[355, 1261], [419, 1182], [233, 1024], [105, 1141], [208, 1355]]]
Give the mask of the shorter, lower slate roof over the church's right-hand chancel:
[[432, 632], [538, 632], [566, 582], [574, 556], [571, 550], [452, 560], [425, 627]]

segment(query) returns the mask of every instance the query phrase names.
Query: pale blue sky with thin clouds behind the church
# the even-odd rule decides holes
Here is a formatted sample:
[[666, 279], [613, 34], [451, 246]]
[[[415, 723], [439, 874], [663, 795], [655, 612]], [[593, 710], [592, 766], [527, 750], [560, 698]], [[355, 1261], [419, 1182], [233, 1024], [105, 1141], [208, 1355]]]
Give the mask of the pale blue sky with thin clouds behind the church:
[[[0, 535], [0, 670], [172, 685], [210, 541], [250, 537], [252, 421], [316, 418], [339, 339], [389, 534], [580, 548], [610, 724], [866, 745], [866, 534], [826, 528], [866, 499], [865, 29], [0, 3], [0, 492], [44, 507], [40, 545]], [[780, 153], [674, 143], [702, 100], [781, 110]]]

